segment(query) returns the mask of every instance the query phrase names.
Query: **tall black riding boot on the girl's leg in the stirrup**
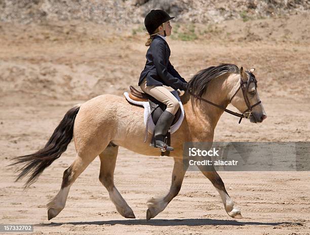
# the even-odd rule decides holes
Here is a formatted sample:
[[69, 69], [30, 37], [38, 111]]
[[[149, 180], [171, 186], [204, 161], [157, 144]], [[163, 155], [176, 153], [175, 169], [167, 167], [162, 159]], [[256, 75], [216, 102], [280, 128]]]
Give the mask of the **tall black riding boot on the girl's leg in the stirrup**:
[[[174, 115], [171, 112], [165, 110], [159, 117], [156, 126], [154, 128], [154, 137], [157, 147], [164, 147], [164, 136], [167, 134], [172, 121], [174, 120]], [[173, 151], [174, 148], [166, 145], [166, 150]]]

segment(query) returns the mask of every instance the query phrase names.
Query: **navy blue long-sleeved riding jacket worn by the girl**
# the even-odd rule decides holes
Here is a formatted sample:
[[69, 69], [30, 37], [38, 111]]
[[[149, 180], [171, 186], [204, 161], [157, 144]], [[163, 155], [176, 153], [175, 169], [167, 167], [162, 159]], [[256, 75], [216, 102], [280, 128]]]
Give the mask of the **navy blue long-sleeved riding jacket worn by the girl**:
[[146, 86], [169, 86], [174, 90], [185, 90], [187, 82], [174, 69], [169, 61], [170, 48], [164, 38], [154, 35], [146, 52], [146, 63], [140, 74], [138, 86], [146, 75]]

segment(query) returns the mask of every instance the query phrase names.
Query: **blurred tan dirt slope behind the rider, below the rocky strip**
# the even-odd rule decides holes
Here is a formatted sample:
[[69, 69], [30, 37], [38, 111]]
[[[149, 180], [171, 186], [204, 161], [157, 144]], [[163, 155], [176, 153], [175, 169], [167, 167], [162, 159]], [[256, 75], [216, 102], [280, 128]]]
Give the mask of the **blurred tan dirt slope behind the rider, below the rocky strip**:
[[[221, 62], [253, 66], [266, 96], [309, 98], [309, 22], [309, 16], [301, 14], [207, 25], [172, 23], [171, 61], [187, 80]], [[2, 95], [122, 95], [129, 85], [136, 85], [145, 63], [146, 37], [138, 25], [115, 29], [76, 21], [2, 22], [0, 30]]]

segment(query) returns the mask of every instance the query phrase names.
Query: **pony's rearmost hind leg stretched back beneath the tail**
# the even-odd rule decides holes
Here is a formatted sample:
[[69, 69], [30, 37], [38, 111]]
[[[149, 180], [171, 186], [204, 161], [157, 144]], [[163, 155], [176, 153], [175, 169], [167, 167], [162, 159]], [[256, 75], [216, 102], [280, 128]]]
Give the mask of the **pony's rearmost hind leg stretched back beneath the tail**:
[[69, 189], [76, 178], [88, 167], [88, 165], [96, 158], [97, 155], [80, 156], [76, 154], [76, 158], [69, 168], [63, 172], [61, 188], [55, 198], [47, 204], [48, 219], [56, 217], [65, 207]]

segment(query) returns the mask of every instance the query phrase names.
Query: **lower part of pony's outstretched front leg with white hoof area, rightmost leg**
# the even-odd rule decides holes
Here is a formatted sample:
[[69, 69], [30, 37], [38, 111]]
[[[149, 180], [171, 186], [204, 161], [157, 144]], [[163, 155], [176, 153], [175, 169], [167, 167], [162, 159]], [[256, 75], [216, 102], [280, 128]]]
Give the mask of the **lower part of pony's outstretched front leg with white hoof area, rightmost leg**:
[[232, 200], [230, 199], [225, 189], [225, 185], [221, 177], [215, 171], [215, 169], [213, 168], [213, 171], [203, 171], [201, 167], [199, 168], [201, 172], [211, 181], [213, 186], [216, 188], [216, 190], [220, 194], [227, 214], [232, 218], [241, 219], [242, 215], [241, 215], [240, 210], [235, 206], [235, 203], [232, 202]]

